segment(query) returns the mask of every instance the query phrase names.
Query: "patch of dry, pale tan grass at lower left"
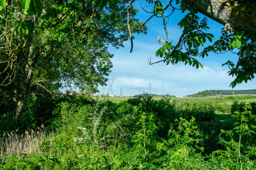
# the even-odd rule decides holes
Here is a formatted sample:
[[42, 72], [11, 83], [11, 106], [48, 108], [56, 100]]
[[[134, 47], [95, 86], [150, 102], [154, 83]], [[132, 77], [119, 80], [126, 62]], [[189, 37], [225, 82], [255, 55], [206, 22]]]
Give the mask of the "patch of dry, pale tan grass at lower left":
[[39, 152], [38, 147], [43, 140], [50, 138], [43, 125], [35, 131], [26, 130], [22, 135], [18, 135], [17, 132], [18, 130], [4, 133], [3, 137], [0, 138], [1, 156], [4, 154]]

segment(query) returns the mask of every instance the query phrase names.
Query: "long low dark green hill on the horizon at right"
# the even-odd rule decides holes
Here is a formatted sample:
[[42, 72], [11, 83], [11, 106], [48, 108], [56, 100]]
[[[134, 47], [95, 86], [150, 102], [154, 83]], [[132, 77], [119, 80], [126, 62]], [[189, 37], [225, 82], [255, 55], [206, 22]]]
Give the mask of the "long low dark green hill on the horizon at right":
[[256, 95], [256, 89], [251, 90], [206, 90], [198, 92], [197, 94], [188, 96], [220, 96], [220, 95], [238, 95], [238, 94], [250, 94]]

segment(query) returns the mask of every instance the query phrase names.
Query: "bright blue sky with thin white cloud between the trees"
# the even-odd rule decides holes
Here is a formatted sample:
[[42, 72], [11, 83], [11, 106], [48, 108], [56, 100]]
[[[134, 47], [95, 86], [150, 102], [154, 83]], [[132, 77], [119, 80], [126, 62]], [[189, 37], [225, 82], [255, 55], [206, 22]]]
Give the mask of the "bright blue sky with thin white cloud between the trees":
[[[141, 21], [146, 21], [151, 15], [142, 11], [140, 5], [136, 4], [139, 9], [138, 16]], [[143, 1], [142, 6], [151, 11], [146, 2]], [[177, 26], [183, 14], [179, 11], [171, 16], [167, 25], [169, 40], [177, 42], [182, 30]], [[222, 25], [208, 18], [210, 30], [216, 38], [220, 36]], [[211, 53], [209, 57], [198, 59], [204, 68], [196, 69], [189, 65], [164, 63], [149, 65], [148, 60], [158, 61], [156, 50], [161, 47], [157, 37], [165, 40], [165, 32], [161, 18], [154, 18], [147, 23], [147, 34], [134, 34], [134, 48], [130, 53], [130, 42], [124, 42], [125, 47], [114, 49], [110, 47], [110, 52], [114, 54], [112, 63], [114, 67], [110, 73], [110, 82], [108, 86], [100, 87], [100, 94], [111, 93], [110, 85], [112, 84], [113, 94], [122, 96], [134, 96], [136, 94], [149, 93], [149, 84], [151, 84], [151, 94], [169, 94], [174, 96], [186, 96], [188, 94], [196, 94], [203, 90], [232, 90], [230, 87], [233, 77], [228, 76], [228, 67], [221, 65], [227, 60], [236, 61], [236, 55], [225, 53], [223, 55], [215, 55]], [[114, 78], [112, 82], [112, 78]], [[238, 84], [238, 89], [255, 89], [256, 80], [248, 81], [247, 84]], [[110, 91], [109, 91], [110, 89]]]

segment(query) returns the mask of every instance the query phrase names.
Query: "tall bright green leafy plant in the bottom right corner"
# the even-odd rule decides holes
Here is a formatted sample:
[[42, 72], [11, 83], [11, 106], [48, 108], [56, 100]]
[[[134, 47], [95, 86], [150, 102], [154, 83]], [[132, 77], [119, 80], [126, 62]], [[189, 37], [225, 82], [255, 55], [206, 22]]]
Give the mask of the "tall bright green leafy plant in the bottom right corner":
[[[242, 111], [235, 111], [233, 117], [235, 124], [233, 130], [221, 130], [220, 135], [224, 135], [221, 144], [225, 146], [225, 150], [217, 150], [213, 152], [218, 156], [213, 158], [218, 162], [225, 160], [227, 166], [231, 169], [254, 169], [256, 147], [254, 141], [248, 141], [255, 131], [250, 128], [251, 106], [247, 104], [243, 106]], [[249, 153], [249, 154], [247, 154]], [[249, 158], [250, 157], [250, 158]]]

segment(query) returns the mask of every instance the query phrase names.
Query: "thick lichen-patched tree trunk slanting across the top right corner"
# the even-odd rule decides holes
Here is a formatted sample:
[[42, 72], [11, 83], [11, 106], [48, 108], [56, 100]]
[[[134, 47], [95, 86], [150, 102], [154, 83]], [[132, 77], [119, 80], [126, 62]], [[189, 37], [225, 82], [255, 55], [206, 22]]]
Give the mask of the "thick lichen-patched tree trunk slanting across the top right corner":
[[256, 33], [256, 2], [253, 0], [186, 0], [200, 13], [235, 30]]

